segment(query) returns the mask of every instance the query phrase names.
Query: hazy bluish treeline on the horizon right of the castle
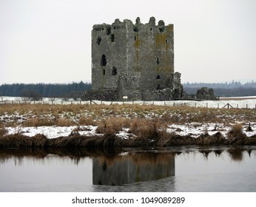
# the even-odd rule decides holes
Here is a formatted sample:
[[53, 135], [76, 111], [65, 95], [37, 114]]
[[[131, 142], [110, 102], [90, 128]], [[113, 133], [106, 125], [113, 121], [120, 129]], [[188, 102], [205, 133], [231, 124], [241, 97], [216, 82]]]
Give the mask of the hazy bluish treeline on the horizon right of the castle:
[[215, 90], [217, 96], [254, 96], [256, 95], [256, 82], [252, 81], [246, 84], [232, 81], [225, 84], [207, 84], [207, 83], [195, 83], [183, 84], [183, 89], [187, 94], [195, 94], [201, 87], [209, 87]]

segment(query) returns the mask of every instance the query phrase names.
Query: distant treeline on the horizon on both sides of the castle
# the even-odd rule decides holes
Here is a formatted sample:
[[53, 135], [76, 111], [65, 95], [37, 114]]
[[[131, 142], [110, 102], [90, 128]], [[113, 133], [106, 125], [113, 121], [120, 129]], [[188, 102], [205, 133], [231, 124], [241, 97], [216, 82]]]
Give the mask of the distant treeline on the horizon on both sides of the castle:
[[[196, 94], [201, 87], [215, 90], [217, 96], [253, 96], [256, 95], [256, 82], [246, 84], [232, 81], [225, 84], [186, 83], [183, 88], [187, 94]], [[80, 98], [82, 93], [91, 89], [92, 84], [73, 82], [72, 84], [2, 84], [0, 96], [30, 97], [35, 99], [45, 98]]]

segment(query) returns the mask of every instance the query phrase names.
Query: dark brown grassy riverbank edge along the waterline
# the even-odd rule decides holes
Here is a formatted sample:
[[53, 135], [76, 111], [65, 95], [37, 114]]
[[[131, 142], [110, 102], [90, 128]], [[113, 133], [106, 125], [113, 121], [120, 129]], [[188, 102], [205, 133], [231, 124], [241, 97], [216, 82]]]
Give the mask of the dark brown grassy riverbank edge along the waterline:
[[256, 135], [247, 137], [242, 132], [229, 132], [227, 138], [220, 132], [209, 135], [207, 132], [198, 138], [190, 135], [164, 135], [155, 132], [152, 136], [136, 136], [132, 138], [120, 138], [115, 134], [84, 136], [78, 133], [67, 137], [49, 139], [45, 135], [38, 134], [28, 137], [22, 134], [4, 135], [0, 138], [0, 149], [7, 148], [92, 148], [92, 147], [166, 147], [166, 146], [256, 146]]

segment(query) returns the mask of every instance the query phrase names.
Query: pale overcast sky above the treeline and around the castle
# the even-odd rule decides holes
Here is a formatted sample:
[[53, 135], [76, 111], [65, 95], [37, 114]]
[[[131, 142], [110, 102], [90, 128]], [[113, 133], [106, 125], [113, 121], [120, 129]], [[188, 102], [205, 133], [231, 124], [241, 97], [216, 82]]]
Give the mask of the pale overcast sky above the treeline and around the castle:
[[0, 84], [90, 81], [93, 24], [175, 27], [182, 82], [256, 81], [255, 0], [0, 0]]

